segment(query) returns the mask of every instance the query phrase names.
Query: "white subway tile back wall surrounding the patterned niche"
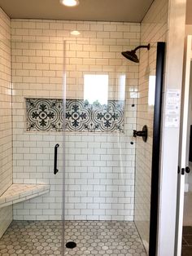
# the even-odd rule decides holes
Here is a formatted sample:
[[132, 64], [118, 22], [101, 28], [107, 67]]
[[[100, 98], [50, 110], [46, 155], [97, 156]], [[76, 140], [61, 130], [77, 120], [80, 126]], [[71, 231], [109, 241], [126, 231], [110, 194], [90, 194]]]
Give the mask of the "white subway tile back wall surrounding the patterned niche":
[[[11, 28], [14, 183], [50, 184], [50, 194], [14, 205], [14, 218], [61, 219], [64, 184], [66, 219], [133, 220], [138, 65], [120, 52], [139, 45], [140, 24], [11, 20]], [[68, 132], [63, 142], [59, 132], [26, 131], [25, 98], [62, 99], [66, 75], [65, 97], [84, 99], [85, 74], [107, 74], [108, 99], [125, 97], [124, 135]]]

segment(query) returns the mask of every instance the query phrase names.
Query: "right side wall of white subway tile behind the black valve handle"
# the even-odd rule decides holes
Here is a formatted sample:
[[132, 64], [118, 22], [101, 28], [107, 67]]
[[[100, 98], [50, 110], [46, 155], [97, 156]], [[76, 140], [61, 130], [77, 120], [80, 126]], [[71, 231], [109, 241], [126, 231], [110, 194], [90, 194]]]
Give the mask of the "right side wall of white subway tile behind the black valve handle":
[[[141, 24], [141, 44], [151, 44], [150, 51], [140, 51], [139, 96], [137, 101], [137, 130], [148, 127], [148, 139], [137, 139], [135, 216], [137, 229], [146, 249], [149, 243], [151, 210], [151, 156], [154, 105], [151, 81], [155, 76], [157, 42], [166, 42], [168, 33], [168, 1], [155, 0]], [[151, 94], [152, 93], [152, 94]]]

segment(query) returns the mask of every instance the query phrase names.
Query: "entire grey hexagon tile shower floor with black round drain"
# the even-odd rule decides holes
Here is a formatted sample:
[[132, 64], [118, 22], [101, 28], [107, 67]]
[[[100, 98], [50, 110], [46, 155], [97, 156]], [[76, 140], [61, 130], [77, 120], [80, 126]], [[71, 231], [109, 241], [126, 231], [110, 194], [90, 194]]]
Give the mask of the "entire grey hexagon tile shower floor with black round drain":
[[[133, 222], [66, 221], [63, 255], [146, 256]], [[0, 240], [1, 256], [62, 255], [61, 221], [13, 221]]]

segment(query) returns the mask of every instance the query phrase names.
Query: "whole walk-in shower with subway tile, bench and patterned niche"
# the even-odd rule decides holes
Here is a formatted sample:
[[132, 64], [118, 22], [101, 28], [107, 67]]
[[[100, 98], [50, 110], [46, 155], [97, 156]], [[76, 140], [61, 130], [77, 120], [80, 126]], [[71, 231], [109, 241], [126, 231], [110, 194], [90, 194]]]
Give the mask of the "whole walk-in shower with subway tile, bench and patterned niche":
[[142, 51], [136, 64], [121, 55], [136, 36], [66, 39], [57, 29], [55, 39], [50, 30], [12, 32], [15, 190], [0, 203], [7, 209], [11, 198], [14, 220], [0, 254], [146, 256], [156, 52]]

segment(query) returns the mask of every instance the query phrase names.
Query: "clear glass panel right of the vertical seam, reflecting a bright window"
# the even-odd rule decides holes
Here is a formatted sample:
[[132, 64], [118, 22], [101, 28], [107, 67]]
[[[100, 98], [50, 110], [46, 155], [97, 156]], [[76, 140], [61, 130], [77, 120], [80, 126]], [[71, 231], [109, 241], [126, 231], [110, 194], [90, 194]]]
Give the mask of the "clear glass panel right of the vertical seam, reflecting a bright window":
[[129, 254], [133, 242], [145, 255], [133, 223], [138, 66], [123, 50], [65, 42], [64, 244], [76, 247], [64, 254]]

